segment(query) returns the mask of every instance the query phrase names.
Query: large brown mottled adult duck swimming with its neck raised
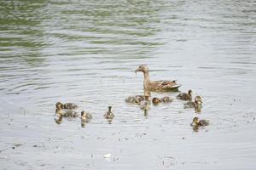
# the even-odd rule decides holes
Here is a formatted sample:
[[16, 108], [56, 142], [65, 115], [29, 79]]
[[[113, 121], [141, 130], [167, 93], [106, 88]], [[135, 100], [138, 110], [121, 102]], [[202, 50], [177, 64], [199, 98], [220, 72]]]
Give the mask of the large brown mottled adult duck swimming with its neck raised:
[[154, 81], [151, 82], [149, 79], [149, 71], [147, 65], [139, 65], [136, 73], [142, 71], [144, 74], [143, 88], [148, 91], [163, 92], [163, 91], [173, 91], [181, 87], [181, 84], [177, 84], [176, 80], [173, 81]]

